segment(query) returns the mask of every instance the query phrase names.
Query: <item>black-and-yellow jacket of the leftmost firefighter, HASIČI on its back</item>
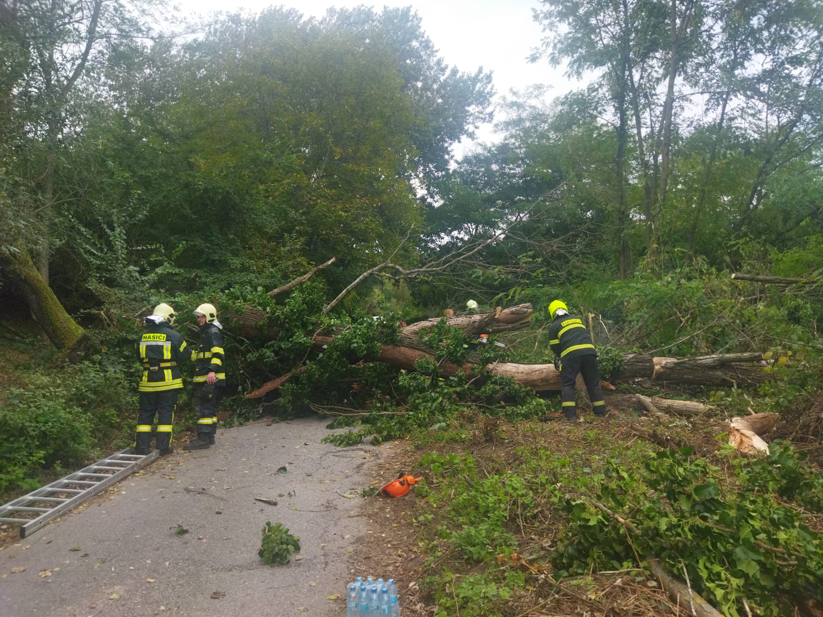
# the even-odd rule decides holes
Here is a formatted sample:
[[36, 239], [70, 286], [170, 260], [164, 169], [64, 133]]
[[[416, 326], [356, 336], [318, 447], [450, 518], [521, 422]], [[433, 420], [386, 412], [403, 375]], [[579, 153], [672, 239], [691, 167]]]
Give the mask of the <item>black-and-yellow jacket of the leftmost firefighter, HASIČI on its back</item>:
[[179, 364], [188, 358], [186, 341], [168, 322], [146, 320], [146, 329], [137, 337], [137, 358], [143, 363], [139, 392], [160, 392], [183, 387]]

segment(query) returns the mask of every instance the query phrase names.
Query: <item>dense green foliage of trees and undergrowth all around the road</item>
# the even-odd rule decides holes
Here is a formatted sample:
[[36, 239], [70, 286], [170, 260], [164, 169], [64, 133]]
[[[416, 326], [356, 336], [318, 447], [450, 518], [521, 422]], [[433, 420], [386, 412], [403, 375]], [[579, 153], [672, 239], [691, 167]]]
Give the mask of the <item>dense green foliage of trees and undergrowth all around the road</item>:
[[[546, 305], [558, 297], [592, 314], [605, 375], [626, 350], [765, 351], [775, 379], [759, 391], [692, 394], [729, 416], [779, 412], [796, 435], [820, 438], [816, 0], [542, 0], [532, 60], [589, 82], [554, 100], [547, 86], [500, 99], [499, 139], [463, 160], [454, 144], [492, 119], [491, 75], [444, 63], [411, 9], [318, 19], [271, 7], [157, 31], [148, 16], [164, 10], [0, 6], [3, 496], [132, 440], [133, 340], [161, 301], [191, 342], [193, 308], [219, 308], [231, 421], [316, 412], [346, 429], [329, 435], [338, 445], [494, 441], [558, 411], [556, 398], [439, 364], [551, 361]], [[760, 285], [735, 271], [800, 281]], [[441, 322], [421, 341], [434, 361], [372, 361], [401, 321], [469, 298], [481, 309], [530, 302], [532, 323], [500, 335], [504, 350], [473, 350]], [[334, 335], [323, 348], [319, 332]], [[242, 397], [283, 375], [276, 393]], [[179, 414], [175, 430], [190, 422]], [[483, 568], [522, 552], [516, 527], [543, 513], [566, 524], [563, 550], [535, 548], [557, 578], [654, 556], [729, 615], [742, 615], [744, 597], [778, 615], [819, 594], [820, 536], [798, 510], [819, 513], [823, 489], [802, 452], [780, 446], [752, 462], [726, 452], [721, 472], [687, 450], [604, 450], [596, 429], [585, 438], [595, 454], [532, 444], [510, 468], [424, 459], [439, 481], [418, 491], [432, 508], [418, 522], [439, 614], [501, 614], [513, 594], [546, 591], [551, 579]], [[275, 527], [266, 533], [281, 537], [261, 549], [272, 562], [296, 548]], [[476, 570], [436, 569], [449, 554]]]

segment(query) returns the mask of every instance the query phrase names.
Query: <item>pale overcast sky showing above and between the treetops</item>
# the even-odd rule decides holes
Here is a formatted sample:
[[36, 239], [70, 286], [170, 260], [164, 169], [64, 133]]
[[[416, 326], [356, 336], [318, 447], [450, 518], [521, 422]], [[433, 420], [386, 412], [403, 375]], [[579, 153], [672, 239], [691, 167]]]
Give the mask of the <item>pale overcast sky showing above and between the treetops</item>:
[[[323, 16], [328, 7], [356, 7], [364, 4], [380, 11], [384, 6], [411, 6], [421, 17], [423, 30], [439, 49], [446, 63], [461, 71], [474, 72], [478, 67], [493, 72], [498, 94], [511, 88], [523, 90], [532, 84], [552, 86], [551, 95], [562, 95], [579, 87], [563, 77], [561, 69], [552, 68], [545, 60], [530, 64], [526, 60], [532, 48], [540, 43], [540, 26], [532, 20], [532, 8], [538, 0], [384, 0], [384, 2], [352, 2], [350, 0], [177, 0], [184, 14], [206, 16], [216, 11], [260, 12], [271, 5], [295, 7], [305, 16]], [[494, 139], [491, 127], [481, 128], [478, 138]], [[469, 147], [461, 144], [455, 153], [462, 155]]]

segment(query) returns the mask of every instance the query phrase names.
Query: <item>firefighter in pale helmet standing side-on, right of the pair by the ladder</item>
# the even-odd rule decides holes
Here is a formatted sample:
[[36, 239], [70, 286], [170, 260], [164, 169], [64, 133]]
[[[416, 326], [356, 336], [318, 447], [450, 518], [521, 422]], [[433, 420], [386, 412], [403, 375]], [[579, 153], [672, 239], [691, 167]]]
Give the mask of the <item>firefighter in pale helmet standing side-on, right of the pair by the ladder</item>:
[[217, 402], [226, 386], [223, 368], [223, 329], [217, 321], [212, 304], [201, 304], [194, 310], [200, 324], [200, 345], [192, 350], [194, 369], [194, 411], [198, 414], [198, 436], [184, 445], [184, 450], [202, 450], [214, 443], [217, 432]]

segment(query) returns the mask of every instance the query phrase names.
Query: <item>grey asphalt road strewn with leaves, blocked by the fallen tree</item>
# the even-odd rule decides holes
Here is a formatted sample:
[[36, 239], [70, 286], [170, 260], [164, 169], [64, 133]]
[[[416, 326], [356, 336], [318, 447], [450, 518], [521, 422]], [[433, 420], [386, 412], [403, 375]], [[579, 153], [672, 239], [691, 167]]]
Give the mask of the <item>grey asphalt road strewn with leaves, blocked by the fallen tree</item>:
[[[381, 450], [320, 443], [327, 423], [219, 429], [212, 448], [162, 458], [0, 550], [0, 615], [342, 617], [366, 526], [354, 490]], [[300, 538], [286, 566], [258, 557], [267, 521]]]

